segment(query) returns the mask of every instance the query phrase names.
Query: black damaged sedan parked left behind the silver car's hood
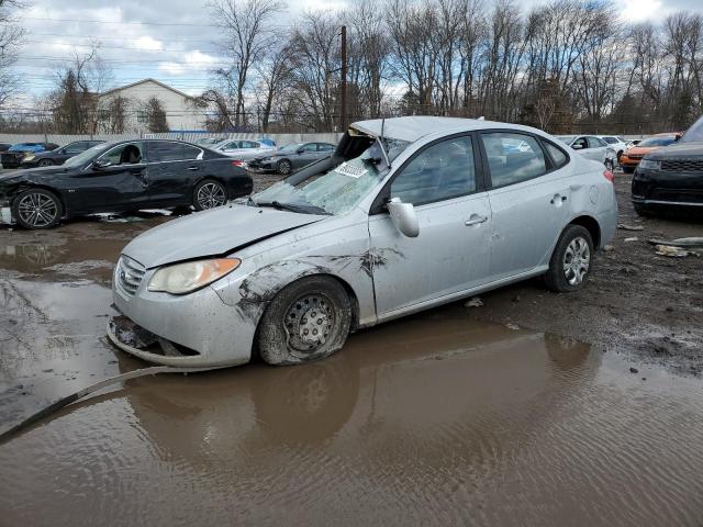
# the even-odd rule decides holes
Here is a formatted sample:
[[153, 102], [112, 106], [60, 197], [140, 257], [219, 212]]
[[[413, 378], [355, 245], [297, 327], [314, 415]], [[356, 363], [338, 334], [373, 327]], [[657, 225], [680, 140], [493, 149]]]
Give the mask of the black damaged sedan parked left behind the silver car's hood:
[[24, 228], [99, 212], [197, 211], [252, 192], [252, 178], [231, 158], [190, 143], [141, 139], [93, 146], [60, 167], [0, 176], [0, 208]]

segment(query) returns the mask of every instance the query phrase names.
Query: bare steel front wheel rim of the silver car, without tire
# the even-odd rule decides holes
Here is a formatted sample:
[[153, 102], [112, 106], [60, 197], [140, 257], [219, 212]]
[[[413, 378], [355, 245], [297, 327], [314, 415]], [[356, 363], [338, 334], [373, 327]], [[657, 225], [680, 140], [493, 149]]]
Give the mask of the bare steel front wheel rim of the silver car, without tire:
[[283, 328], [291, 355], [306, 358], [330, 339], [334, 325], [333, 304], [324, 294], [300, 296], [286, 312]]

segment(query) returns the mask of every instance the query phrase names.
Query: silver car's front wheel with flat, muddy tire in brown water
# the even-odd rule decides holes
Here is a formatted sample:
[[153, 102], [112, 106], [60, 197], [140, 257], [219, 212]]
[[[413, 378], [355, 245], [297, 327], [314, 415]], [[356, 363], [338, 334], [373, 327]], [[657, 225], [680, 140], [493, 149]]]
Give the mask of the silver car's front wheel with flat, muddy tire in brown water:
[[261, 317], [257, 345], [269, 365], [300, 365], [330, 357], [352, 327], [352, 303], [332, 277], [306, 277], [283, 288]]

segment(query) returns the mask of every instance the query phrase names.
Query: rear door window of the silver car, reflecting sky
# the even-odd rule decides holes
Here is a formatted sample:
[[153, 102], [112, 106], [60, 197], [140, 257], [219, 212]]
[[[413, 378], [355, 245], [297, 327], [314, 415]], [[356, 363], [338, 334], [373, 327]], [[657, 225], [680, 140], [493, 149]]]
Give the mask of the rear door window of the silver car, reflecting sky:
[[[547, 161], [537, 139], [511, 132], [481, 134], [492, 187], [505, 187], [547, 172]], [[521, 145], [515, 148], [514, 145]]]

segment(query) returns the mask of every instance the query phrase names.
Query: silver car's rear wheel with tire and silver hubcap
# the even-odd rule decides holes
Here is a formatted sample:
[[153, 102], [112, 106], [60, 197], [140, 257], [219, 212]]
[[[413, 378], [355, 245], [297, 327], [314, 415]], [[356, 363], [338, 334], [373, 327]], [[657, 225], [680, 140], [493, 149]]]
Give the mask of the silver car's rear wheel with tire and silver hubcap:
[[545, 274], [547, 289], [557, 293], [571, 293], [583, 288], [591, 270], [593, 238], [581, 225], [568, 225], [551, 254], [549, 270]]

